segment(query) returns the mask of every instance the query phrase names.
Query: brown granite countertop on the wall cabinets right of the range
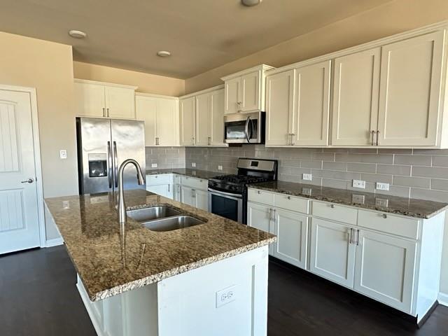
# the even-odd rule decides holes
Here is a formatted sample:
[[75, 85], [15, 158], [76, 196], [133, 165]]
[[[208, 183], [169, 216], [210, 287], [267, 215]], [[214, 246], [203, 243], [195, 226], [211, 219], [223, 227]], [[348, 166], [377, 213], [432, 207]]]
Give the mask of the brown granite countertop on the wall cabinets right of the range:
[[[256, 183], [249, 187], [272, 191], [274, 193], [307, 197], [312, 200], [345, 204], [363, 209], [384, 211], [416, 218], [427, 219], [448, 209], [448, 204], [442, 202], [363, 193], [354, 190], [319, 187], [302, 183], [272, 181]], [[360, 198], [363, 199], [364, 202], [359, 202]], [[387, 206], [384, 206], [383, 204], [387, 204]]]

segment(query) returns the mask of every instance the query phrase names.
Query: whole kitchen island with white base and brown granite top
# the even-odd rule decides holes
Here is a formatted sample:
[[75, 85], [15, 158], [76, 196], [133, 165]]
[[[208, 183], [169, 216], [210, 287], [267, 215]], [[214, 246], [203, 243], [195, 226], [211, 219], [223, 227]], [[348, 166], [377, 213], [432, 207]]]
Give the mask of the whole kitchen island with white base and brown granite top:
[[120, 230], [116, 193], [45, 200], [98, 335], [266, 335], [274, 235], [145, 190], [125, 200], [204, 223], [154, 231], [128, 217]]

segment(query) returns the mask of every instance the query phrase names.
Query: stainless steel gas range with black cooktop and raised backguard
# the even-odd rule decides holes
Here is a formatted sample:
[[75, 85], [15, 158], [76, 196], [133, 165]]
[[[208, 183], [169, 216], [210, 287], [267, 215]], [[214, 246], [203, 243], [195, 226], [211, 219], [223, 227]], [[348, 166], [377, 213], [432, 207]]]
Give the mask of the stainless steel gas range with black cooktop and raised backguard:
[[277, 160], [239, 158], [237, 175], [209, 179], [209, 212], [246, 224], [247, 185], [276, 181]]

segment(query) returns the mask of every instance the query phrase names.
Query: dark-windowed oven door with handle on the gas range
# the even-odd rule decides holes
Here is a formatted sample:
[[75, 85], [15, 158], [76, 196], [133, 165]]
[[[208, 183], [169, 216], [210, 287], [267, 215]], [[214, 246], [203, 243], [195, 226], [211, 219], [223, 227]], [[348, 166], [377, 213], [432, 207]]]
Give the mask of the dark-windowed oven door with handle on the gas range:
[[243, 223], [243, 198], [209, 188], [209, 212]]

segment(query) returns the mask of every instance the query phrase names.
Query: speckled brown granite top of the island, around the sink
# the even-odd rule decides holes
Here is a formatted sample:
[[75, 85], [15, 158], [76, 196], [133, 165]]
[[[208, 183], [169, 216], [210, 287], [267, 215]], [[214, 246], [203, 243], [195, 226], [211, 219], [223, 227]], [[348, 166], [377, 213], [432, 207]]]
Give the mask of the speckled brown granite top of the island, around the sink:
[[123, 235], [116, 193], [45, 200], [90, 300], [97, 301], [265, 246], [274, 235], [146, 190], [125, 192], [127, 209], [164, 204], [207, 223], [155, 232], [127, 218]]

